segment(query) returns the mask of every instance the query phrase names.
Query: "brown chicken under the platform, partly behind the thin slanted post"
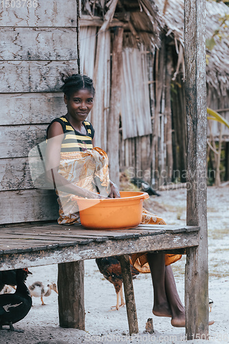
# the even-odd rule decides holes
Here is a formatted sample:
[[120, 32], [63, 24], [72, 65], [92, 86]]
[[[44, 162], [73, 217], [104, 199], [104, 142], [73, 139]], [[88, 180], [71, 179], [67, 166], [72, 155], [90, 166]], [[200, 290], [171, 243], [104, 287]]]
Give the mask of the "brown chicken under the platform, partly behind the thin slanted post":
[[[114, 310], [119, 310], [119, 308], [123, 307], [125, 303], [122, 291], [122, 270], [120, 266], [120, 261], [118, 260], [118, 256], [97, 258], [96, 264], [98, 266], [98, 270], [100, 270], [101, 274], [105, 277], [105, 279], [107, 279], [107, 281], [113, 284], [117, 294], [117, 304], [112, 306], [111, 308], [114, 308]], [[135, 270], [135, 268], [133, 268], [132, 265], [131, 273], [133, 279], [137, 275], [139, 275], [138, 270]], [[119, 298], [121, 300], [120, 304]]]

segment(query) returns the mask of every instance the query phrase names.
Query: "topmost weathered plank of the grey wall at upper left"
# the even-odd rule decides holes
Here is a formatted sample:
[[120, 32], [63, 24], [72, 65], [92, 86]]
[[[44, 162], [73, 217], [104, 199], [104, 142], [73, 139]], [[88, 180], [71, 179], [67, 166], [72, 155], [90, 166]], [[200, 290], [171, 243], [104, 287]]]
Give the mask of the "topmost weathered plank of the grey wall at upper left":
[[6, 8], [5, 1], [4, 7], [1, 4], [0, 26], [51, 26], [57, 28], [76, 26], [75, 0], [32, 0], [31, 8], [28, 7], [28, 1], [15, 1], [17, 4], [14, 8], [12, 1], [9, 2], [8, 8]]

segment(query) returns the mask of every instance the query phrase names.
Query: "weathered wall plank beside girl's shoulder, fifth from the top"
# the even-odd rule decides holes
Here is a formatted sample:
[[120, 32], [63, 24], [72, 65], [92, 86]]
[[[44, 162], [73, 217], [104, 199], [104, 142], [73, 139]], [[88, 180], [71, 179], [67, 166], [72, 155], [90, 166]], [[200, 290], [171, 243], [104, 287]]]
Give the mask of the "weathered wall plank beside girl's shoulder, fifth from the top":
[[30, 149], [46, 139], [47, 125], [1, 127], [0, 158], [25, 158]]

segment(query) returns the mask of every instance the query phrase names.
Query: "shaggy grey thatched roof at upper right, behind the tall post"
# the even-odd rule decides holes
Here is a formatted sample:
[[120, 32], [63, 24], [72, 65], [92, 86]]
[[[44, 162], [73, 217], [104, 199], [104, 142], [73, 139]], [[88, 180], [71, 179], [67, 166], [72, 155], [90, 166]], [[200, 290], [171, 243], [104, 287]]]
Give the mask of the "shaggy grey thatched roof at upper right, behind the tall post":
[[[166, 11], [164, 1], [154, 0], [158, 7], [160, 17], [164, 21], [164, 30], [167, 36], [173, 36], [177, 45], [177, 53], [180, 46], [184, 47], [184, 0], [168, 0]], [[229, 8], [223, 2], [206, 1], [206, 38], [210, 39], [215, 30], [219, 29], [220, 18], [229, 14]], [[229, 23], [228, 23], [229, 25]], [[229, 89], [229, 34], [225, 28], [221, 38], [214, 36], [216, 45], [212, 50], [207, 50], [206, 81], [221, 95], [226, 96]]]

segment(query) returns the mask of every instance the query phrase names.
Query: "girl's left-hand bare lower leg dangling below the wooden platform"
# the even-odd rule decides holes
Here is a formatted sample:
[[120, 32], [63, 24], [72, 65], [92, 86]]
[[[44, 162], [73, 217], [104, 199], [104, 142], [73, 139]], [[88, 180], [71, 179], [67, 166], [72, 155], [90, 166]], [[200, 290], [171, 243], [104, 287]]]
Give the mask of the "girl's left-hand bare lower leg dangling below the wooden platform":
[[153, 314], [172, 316], [166, 296], [164, 253], [148, 253], [147, 255], [153, 281]]

